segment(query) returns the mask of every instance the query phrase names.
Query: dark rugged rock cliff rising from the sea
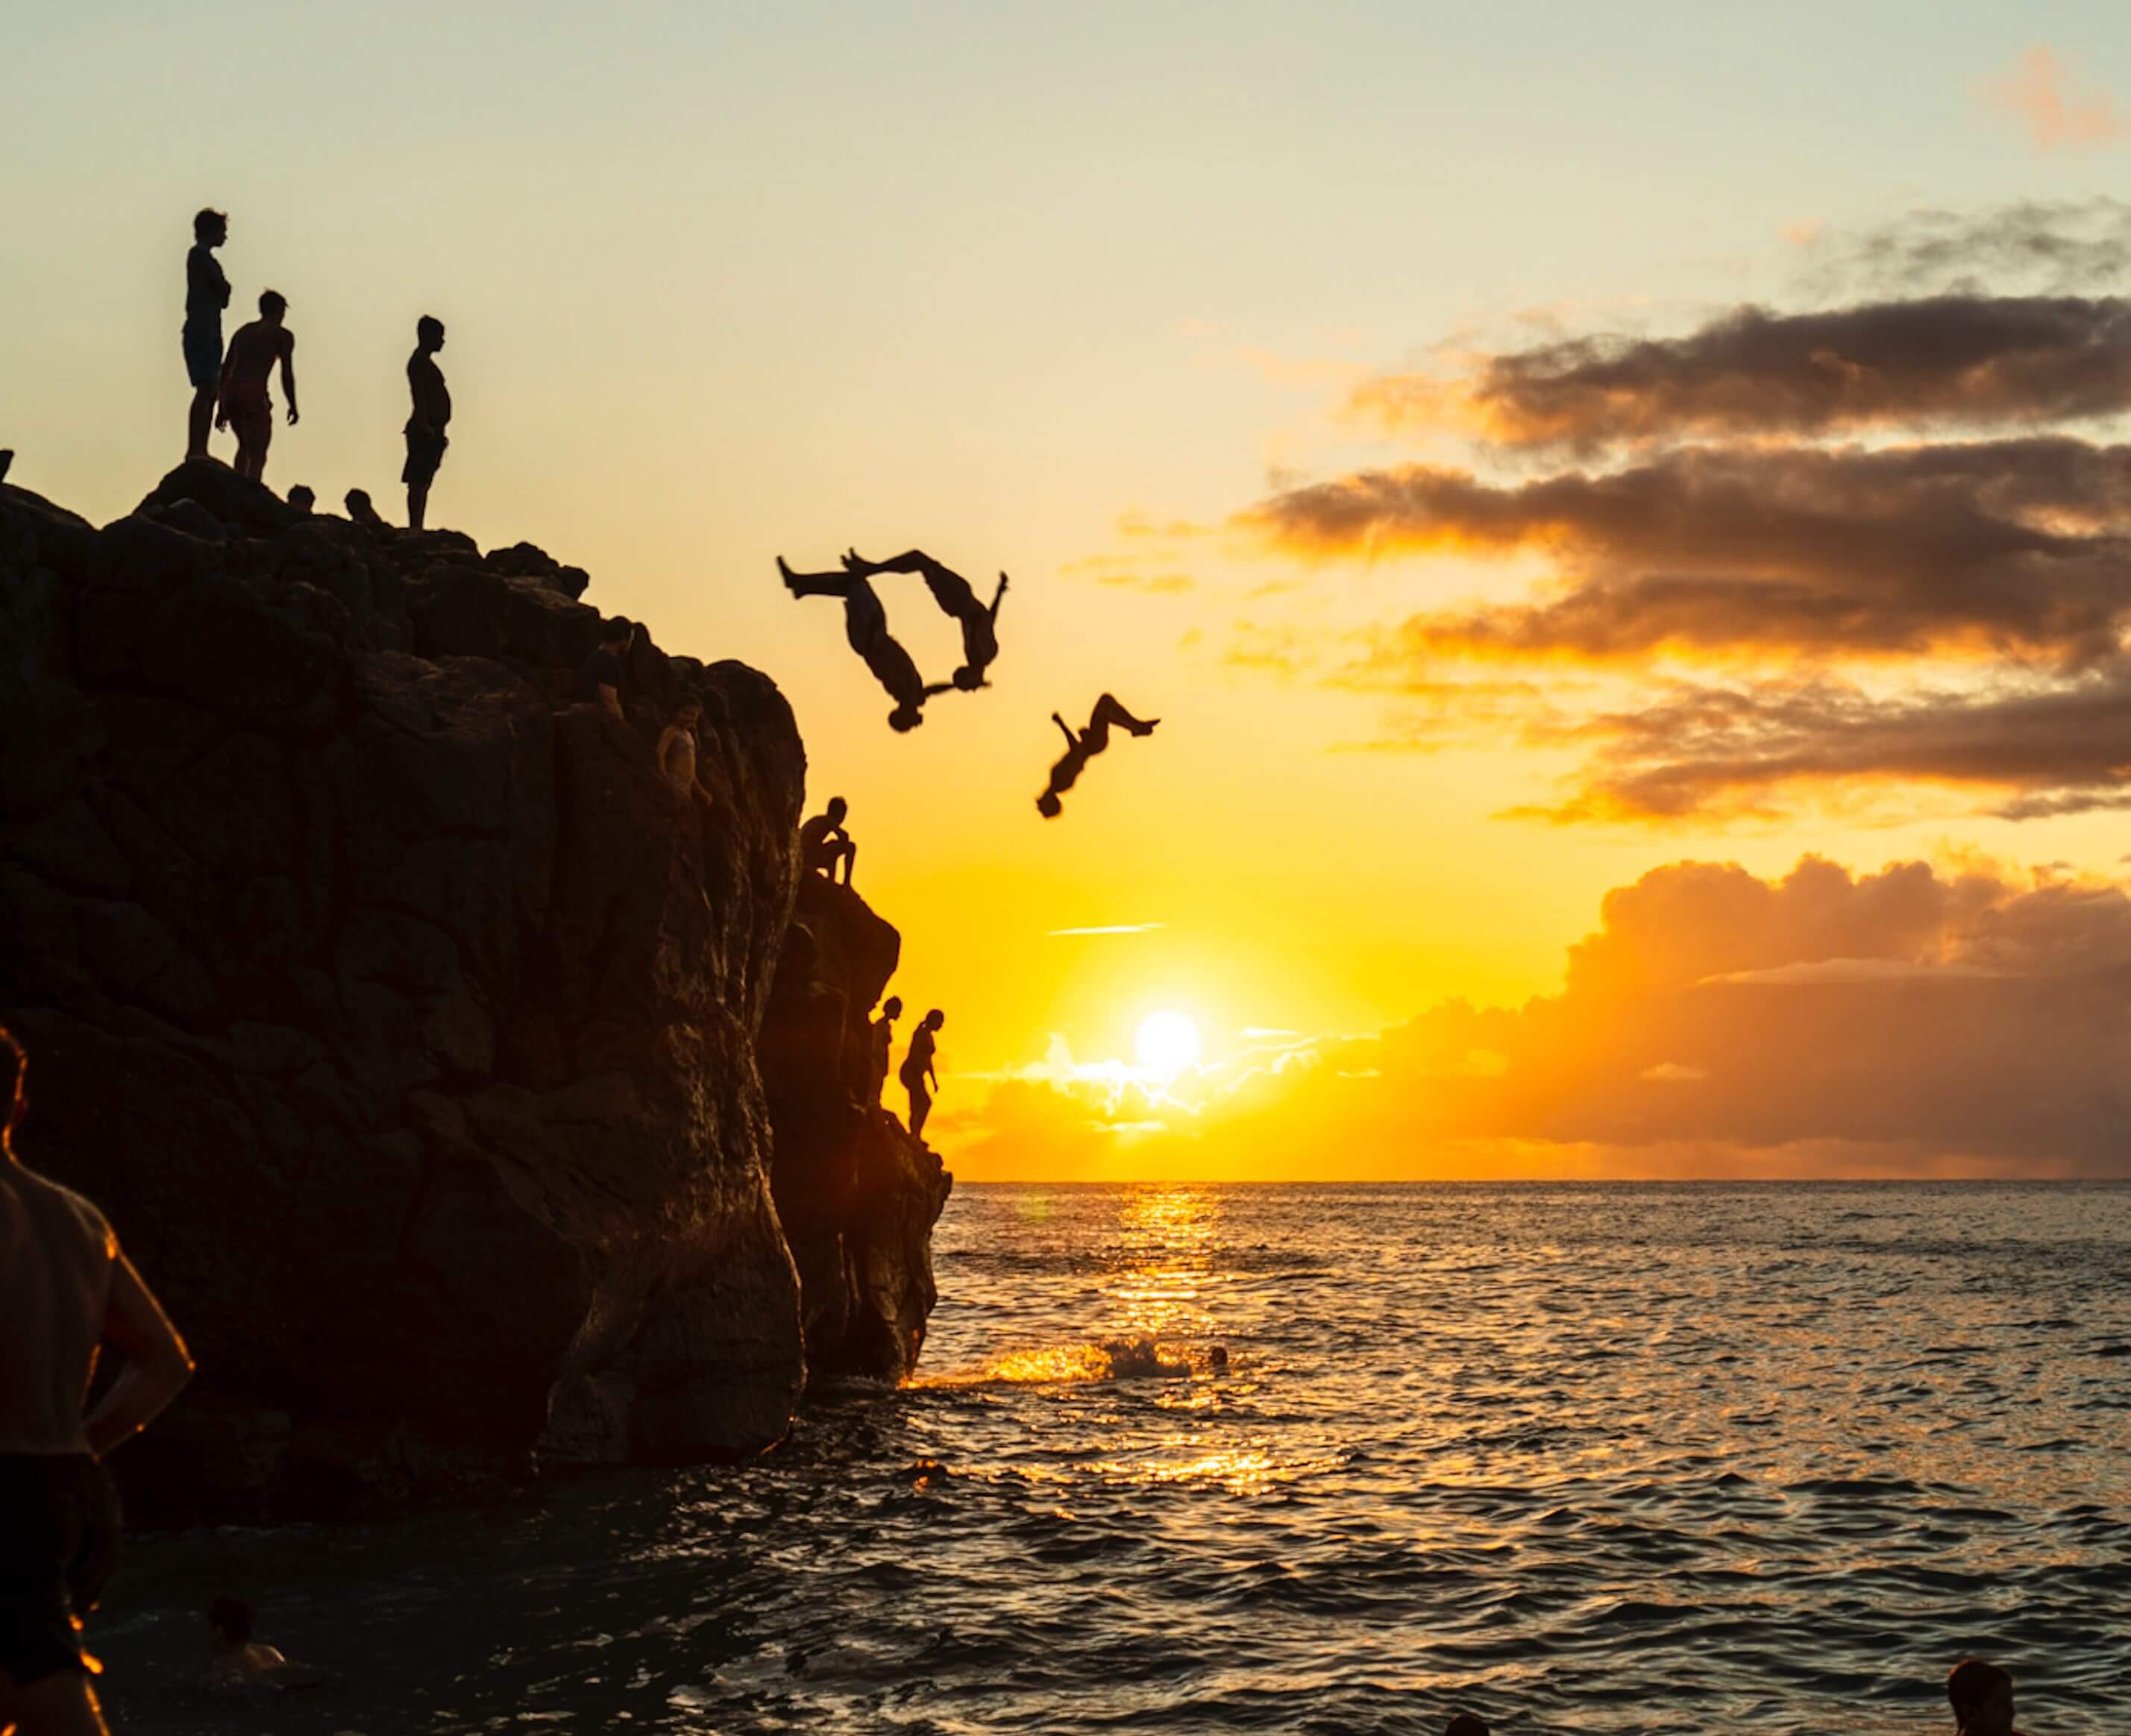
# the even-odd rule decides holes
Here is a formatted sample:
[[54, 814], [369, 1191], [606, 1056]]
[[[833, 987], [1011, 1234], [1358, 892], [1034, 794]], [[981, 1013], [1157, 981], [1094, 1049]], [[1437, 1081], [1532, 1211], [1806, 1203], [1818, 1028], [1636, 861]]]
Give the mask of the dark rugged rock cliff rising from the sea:
[[[895, 931], [797, 886], [767, 677], [639, 630], [629, 724], [578, 703], [582, 588], [219, 464], [102, 530], [0, 486], [19, 1146], [200, 1361], [147, 1519], [746, 1455], [810, 1357], [916, 1355], [946, 1178], [840, 1091]], [[710, 803], [652, 765], [684, 694]]]

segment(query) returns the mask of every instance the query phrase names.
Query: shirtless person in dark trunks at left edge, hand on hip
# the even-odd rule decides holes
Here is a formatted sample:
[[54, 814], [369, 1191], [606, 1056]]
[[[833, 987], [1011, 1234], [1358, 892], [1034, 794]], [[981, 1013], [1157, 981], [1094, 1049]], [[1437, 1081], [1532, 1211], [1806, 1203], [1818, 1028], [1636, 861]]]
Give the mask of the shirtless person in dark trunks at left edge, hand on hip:
[[[119, 1517], [100, 1459], [147, 1427], [192, 1357], [119, 1252], [104, 1214], [15, 1157], [28, 1059], [0, 1029], [0, 1730], [104, 1730], [81, 1649], [117, 1561]], [[98, 1344], [124, 1357], [83, 1414]]]

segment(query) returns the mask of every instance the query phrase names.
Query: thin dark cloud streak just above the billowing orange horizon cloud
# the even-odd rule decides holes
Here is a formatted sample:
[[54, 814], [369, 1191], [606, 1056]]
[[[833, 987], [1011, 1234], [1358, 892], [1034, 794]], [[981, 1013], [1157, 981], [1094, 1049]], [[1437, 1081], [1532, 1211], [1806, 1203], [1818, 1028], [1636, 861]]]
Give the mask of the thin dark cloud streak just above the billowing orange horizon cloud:
[[1771, 814], [1807, 788], [1950, 784], [2003, 818], [2131, 805], [2131, 662], [2076, 679], [1880, 699], [1837, 682], [1679, 688], [1577, 735], [1600, 737], [1577, 792], [1536, 818]]

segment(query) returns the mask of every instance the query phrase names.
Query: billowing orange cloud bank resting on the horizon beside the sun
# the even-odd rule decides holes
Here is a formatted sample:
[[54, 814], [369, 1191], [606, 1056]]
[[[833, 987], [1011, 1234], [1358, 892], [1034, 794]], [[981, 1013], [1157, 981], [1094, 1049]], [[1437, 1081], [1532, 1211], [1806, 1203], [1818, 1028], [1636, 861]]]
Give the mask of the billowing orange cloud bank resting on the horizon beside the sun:
[[1558, 995], [1447, 1001], [1245, 1065], [1185, 1112], [1051, 1086], [997, 1108], [974, 1159], [1051, 1176], [1100, 1174], [1125, 1116], [1134, 1161], [1176, 1174], [1285, 1174], [1296, 1150], [1340, 1176], [2125, 1174], [2131, 897], [1675, 863], [1605, 897]]

